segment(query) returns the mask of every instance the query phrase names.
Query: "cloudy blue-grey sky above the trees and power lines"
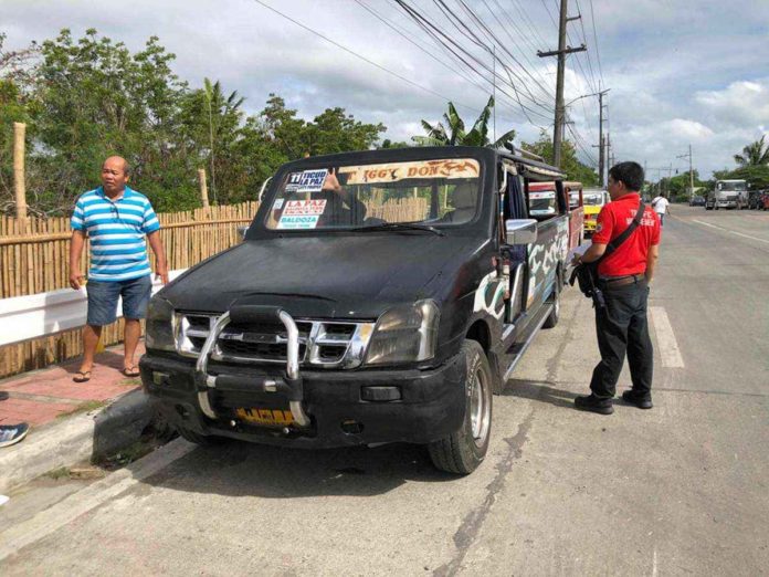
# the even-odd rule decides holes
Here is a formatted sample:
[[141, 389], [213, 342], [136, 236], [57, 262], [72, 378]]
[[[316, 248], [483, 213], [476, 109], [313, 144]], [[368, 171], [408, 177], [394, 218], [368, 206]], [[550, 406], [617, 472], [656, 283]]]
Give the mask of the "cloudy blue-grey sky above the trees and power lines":
[[[420, 119], [438, 120], [446, 101], [474, 119], [496, 72], [497, 134], [515, 128], [518, 140], [534, 140], [542, 128], [551, 133], [555, 59], [536, 51], [557, 48], [557, 0], [403, 2], [466, 50], [475, 70], [396, 0], [2, 0], [0, 32], [9, 49], [62, 28], [77, 36], [95, 28], [133, 50], [158, 35], [182, 78], [193, 86], [220, 80], [246, 97], [250, 113], [277, 93], [307, 119], [341, 106], [383, 123], [397, 140], [422, 134]], [[687, 169], [688, 159], [676, 157], [692, 145], [695, 168], [709, 176], [734, 167], [733, 155], [769, 132], [769, 0], [569, 0], [569, 15], [579, 13], [568, 43], [584, 42], [588, 52], [567, 61], [566, 101], [610, 90], [618, 161], [646, 162], [656, 180], [663, 167]], [[576, 136], [567, 136], [589, 164], [598, 158], [598, 109], [596, 96], [569, 106]]]

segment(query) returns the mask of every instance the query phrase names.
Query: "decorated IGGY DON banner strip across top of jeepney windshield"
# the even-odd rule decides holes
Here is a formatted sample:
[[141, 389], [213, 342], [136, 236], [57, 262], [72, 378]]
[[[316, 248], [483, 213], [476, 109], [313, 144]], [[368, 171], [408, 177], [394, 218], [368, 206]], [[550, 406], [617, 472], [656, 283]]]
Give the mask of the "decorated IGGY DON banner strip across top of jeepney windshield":
[[472, 158], [339, 167], [339, 174], [348, 175], [348, 185], [397, 182], [408, 178], [477, 178], [480, 172], [478, 161]]

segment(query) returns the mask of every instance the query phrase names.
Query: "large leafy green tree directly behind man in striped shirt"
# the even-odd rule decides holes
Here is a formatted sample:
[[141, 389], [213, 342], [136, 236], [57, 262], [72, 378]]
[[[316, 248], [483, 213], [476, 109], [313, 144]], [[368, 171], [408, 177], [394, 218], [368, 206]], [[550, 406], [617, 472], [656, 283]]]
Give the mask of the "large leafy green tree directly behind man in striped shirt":
[[179, 101], [187, 85], [170, 69], [173, 54], [151, 36], [131, 54], [122, 43], [87, 30], [75, 41], [69, 30], [42, 44], [38, 92], [44, 103], [38, 123], [35, 160], [51, 175], [67, 210], [97, 182], [102, 160], [124, 156], [133, 183], [158, 210], [197, 202], [188, 150], [178, 147]]

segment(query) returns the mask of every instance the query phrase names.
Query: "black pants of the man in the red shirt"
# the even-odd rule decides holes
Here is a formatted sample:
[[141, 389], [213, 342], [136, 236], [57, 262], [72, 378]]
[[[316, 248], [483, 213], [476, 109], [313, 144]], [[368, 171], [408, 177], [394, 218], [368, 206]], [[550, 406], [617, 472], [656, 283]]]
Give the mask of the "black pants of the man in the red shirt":
[[649, 286], [644, 280], [612, 287], [601, 283], [607, 306], [596, 310], [596, 333], [601, 361], [590, 380], [596, 397], [610, 399], [624, 364], [625, 352], [633, 381], [633, 392], [651, 397], [654, 357], [646, 322]]

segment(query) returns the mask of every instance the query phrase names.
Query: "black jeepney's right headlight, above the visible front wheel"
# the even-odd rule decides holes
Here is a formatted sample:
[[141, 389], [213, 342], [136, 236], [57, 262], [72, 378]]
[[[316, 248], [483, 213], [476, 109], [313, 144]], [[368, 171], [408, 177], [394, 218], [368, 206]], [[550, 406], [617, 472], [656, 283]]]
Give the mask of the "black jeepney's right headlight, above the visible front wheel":
[[434, 301], [419, 301], [382, 313], [366, 355], [366, 365], [426, 360], [435, 356], [440, 314]]

